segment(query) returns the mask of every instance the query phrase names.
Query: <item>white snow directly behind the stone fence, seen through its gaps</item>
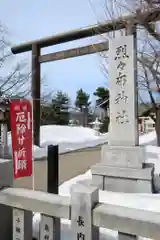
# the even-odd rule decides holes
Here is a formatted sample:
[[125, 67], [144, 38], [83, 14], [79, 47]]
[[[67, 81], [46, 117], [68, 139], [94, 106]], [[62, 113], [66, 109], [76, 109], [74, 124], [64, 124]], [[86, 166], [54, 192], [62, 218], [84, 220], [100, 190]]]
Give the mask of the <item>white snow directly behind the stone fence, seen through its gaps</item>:
[[[91, 171], [86, 172], [83, 175], [79, 175], [65, 183], [63, 183], [59, 187], [59, 194], [61, 196], [70, 196], [70, 189], [73, 184], [76, 184], [78, 181], [91, 179]], [[133, 207], [140, 208], [142, 210], [152, 210], [160, 212], [159, 206], [159, 198], [160, 194], [152, 194], [154, 196], [154, 204], [153, 198], [150, 197], [150, 194], [127, 194], [127, 193], [116, 193], [116, 192], [106, 192], [99, 191], [99, 201], [106, 204], [118, 204], [124, 207]], [[118, 199], [118, 201], [117, 201]], [[39, 222], [40, 222], [40, 214], [36, 213], [33, 217], [33, 236], [38, 239], [39, 236]], [[69, 240], [72, 238], [71, 222], [67, 219], [61, 219], [61, 240]], [[109, 229], [100, 228], [100, 240], [118, 240], [118, 233], [116, 231], [112, 231]], [[140, 238], [142, 239], [142, 238]], [[144, 239], [144, 238], [143, 238]]]

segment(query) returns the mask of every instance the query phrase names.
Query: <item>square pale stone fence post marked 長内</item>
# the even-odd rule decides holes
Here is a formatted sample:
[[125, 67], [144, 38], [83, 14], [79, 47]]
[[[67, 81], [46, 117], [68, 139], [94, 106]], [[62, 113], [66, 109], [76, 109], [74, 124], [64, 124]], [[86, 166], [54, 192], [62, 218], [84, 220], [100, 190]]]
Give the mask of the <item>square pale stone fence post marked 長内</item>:
[[92, 225], [92, 209], [99, 202], [98, 188], [76, 184], [71, 189], [71, 230], [73, 239], [98, 240], [99, 228]]

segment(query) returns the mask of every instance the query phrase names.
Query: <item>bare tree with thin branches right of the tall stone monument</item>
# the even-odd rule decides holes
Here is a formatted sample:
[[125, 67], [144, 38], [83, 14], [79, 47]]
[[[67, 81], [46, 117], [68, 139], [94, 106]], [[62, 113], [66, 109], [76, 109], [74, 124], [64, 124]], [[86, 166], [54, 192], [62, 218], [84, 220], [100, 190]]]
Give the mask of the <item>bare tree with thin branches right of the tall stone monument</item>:
[[[93, 8], [93, 5], [92, 5]], [[160, 10], [159, 0], [105, 0], [105, 16], [107, 20], [113, 20], [126, 14], [137, 14], [137, 65], [138, 65], [138, 87], [139, 96], [145, 103], [146, 98], [150, 100], [152, 111], [146, 110], [155, 122], [155, 130], [157, 133], [157, 145], [160, 146], [160, 34], [156, 31], [155, 23], [148, 23], [149, 19], [141, 19], [140, 12], [148, 11], [150, 8], [158, 8]], [[160, 15], [160, 11], [159, 11]], [[160, 31], [160, 29], [159, 29]], [[115, 37], [117, 32], [113, 32], [103, 36], [105, 39]], [[124, 30], [118, 34], [123, 35]], [[105, 53], [103, 57], [103, 71], [107, 75], [108, 58]]]

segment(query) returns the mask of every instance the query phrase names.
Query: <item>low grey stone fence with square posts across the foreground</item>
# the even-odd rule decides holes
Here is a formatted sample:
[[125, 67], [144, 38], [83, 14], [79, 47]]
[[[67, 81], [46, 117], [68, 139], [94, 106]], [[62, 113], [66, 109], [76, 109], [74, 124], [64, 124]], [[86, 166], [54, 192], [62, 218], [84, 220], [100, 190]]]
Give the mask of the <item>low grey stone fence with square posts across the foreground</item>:
[[[159, 196], [149, 198], [153, 206], [160, 205]], [[0, 191], [0, 239], [32, 239], [33, 212], [39, 212], [40, 240], [60, 239], [61, 218], [71, 220], [72, 239], [76, 240], [99, 239], [100, 227], [118, 231], [119, 240], [138, 236], [159, 240], [160, 211], [155, 209], [120, 206], [118, 199], [113, 205], [100, 203], [98, 188], [82, 183], [72, 186], [71, 197], [4, 188]]]

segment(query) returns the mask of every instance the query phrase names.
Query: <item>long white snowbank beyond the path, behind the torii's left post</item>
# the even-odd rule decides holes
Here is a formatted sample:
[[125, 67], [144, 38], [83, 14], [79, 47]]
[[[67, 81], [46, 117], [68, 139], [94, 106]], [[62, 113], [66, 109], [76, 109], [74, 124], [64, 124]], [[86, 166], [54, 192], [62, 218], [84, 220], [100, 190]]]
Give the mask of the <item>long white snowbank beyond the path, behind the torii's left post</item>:
[[[40, 128], [40, 148], [33, 146], [33, 157], [47, 156], [47, 146], [59, 145], [59, 152], [95, 147], [107, 142], [108, 134], [96, 136], [96, 131], [85, 127], [47, 125]], [[11, 134], [8, 134], [8, 145], [11, 154]]]

